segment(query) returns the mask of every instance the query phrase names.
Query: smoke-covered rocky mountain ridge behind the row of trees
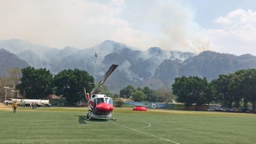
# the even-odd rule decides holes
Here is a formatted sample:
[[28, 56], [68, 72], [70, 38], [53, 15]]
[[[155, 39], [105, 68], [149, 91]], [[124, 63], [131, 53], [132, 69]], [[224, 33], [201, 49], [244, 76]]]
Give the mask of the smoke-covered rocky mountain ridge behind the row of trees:
[[[26, 43], [28, 45], [24, 45]], [[24, 51], [17, 54], [21, 59], [26, 60], [29, 65], [35, 68], [47, 66], [53, 74], [64, 69], [78, 68], [88, 71], [90, 75], [94, 76], [95, 81], [99, 81], [109, 66], [113, 63], [118, 64], [117, 70], [106, 81], [112, 85], [108, 87], [112, 92], [118, 92], [129, 84], [135, 87], [149, 86], [153, 89], [160, 86], [170, 86], [175, 77], [182, 75], [197, 75], [206, 77], [208, 81], [211, 81], [217, 78], [219, 74], [256, 67], [256, 56], [251, 54], [237, 56], [214, 51], [203, 51], [195, 54], [162, 50], [160, 47], [150, 47], [146, 51], [142, 51], [124, 43], [105, 40], [87, 49], [76, 49], [71, 46], [66, 46], [64, 49], [47, 47], [47, 50], [39, 55], [36, 50], [46, 46], [30, 44], [13, 39], [0, 41], [0, 47], [3, 48], [4, 46], [9, 49], [21, 47], [21, 50]], [[38, 46], [35, 51], [31, 49], [33, 46]], [[102, 54], [95, 57], [95, 52]]]

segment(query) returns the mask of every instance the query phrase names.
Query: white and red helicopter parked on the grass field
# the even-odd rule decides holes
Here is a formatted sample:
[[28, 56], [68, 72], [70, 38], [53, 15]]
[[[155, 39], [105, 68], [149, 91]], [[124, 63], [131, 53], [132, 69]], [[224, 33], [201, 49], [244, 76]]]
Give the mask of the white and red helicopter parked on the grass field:
[[91, 96], [89, 93], [86, 93], [86, 100], [88, 101], [88, 113], [85, 114], [85, 119], [90, 120], [91, 118], [109, 118], [114, 121], [117, 118], [112, 117], [113, 111], [113, 101], [112, 98], [107, 97], [105, 94], [102, 94], [102, 85], [110, 74], [117, 68], [118, 65], [112, 65], [109, 67], [109, 70], [102, 77], [98, 86], [92, 91]]

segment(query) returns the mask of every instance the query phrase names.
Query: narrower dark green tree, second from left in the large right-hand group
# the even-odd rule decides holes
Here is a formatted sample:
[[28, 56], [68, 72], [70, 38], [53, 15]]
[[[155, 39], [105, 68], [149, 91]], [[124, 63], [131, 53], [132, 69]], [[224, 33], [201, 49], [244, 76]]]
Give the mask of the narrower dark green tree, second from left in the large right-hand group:
[[215, 88], [215, 99], [221, 101], [225, 107], [231, 107], [234, 101], [233, 94], [229, 89], [232, 75], [219, 75], [219, 78], [213, 79], [211, 84]]

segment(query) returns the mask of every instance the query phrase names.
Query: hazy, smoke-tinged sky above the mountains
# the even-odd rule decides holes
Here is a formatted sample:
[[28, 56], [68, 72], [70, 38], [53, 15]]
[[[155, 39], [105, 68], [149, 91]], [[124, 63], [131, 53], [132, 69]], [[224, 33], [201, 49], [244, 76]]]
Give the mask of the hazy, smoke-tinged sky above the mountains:
[[106, 39], [143, 50], [256, 55], [253, 0], [0, 0], [0, 40], [89, 48]]

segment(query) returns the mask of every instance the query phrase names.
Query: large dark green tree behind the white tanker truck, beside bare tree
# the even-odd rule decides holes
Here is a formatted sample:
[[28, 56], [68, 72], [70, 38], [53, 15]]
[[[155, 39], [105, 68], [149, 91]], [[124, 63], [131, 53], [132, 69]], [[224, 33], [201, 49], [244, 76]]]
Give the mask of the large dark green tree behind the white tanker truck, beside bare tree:
[[26, 67], [21, 69], [21, 83], [17, 85], [19, 93], [26, 98], [39, 99], [53, 94], [51, 83], [53, 75], [49, 70]]

